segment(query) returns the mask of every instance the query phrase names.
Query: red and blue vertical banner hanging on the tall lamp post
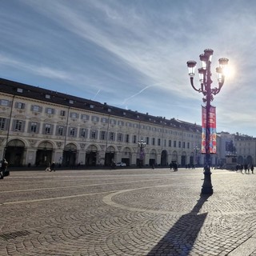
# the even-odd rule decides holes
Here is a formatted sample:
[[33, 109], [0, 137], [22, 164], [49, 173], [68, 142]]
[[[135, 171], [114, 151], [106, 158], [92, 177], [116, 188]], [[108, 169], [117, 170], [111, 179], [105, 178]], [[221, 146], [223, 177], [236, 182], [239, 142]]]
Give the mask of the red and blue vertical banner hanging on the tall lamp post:
[[206, 106], [202, 106], [202, 154], [206, 154], [206, 146], [209, 146], [208, 153], [216, 154], [217, 139], [216, 139], [216, 108], [210, 106], [209, 111], [209, 136], [206, 142]]

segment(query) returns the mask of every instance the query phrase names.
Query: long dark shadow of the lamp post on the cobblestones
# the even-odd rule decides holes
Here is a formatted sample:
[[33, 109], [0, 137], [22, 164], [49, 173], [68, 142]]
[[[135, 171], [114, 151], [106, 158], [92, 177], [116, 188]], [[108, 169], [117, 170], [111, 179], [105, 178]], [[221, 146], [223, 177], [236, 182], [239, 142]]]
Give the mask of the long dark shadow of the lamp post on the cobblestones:
[[147, 256], [189, 255], [207, 217], [207, 213], [198, 214], [198, 212], [210, 195], [201, 194], [190, 213], [182, 215], [158, 244], [150, 250]]

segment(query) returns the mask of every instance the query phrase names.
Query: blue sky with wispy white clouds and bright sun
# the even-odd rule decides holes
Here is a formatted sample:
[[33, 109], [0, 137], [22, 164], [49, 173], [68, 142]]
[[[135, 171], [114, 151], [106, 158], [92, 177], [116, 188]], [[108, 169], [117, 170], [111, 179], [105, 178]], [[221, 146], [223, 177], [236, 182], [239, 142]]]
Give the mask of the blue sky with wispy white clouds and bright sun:
[[201, 125], [186, 62], [210, 48], [212, 88], [218, 59], [230, 68], [217, 131], [256, 137], [255, 13], [254, 0], [2, 0], [0, 77]]

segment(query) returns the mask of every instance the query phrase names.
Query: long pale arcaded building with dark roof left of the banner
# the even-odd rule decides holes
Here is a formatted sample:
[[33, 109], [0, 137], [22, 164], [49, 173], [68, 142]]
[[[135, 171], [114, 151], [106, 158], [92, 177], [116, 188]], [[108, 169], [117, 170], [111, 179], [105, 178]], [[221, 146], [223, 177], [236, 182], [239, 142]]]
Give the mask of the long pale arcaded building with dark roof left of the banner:
[[201, 133], [197, 124], [0, 78], [0, 157], [10, 166], [202, 166]]

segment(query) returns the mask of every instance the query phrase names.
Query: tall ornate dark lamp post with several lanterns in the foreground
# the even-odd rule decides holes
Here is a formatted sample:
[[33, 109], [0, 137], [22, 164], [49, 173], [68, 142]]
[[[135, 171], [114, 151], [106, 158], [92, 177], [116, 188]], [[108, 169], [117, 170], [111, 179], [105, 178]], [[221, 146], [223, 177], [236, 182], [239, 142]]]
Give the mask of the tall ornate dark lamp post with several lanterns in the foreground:
[[205, 144], [206, 144], [206, 165], [204, 167], [204, 182], [202, 185], [202, 194], [213, 194], [213, 186], [211, 185], [211, 172], [210, 172], [210, 102], [214, 100], [214, 95], [218, 94], [222, 89], [222, 86], [225, 81], [225, 66], [228, 63], [227, 58], [220, 58], [218, 60], [219, 66], [216, 68], [216, 72], [218, 75], [218, 87], [211, 88], [212, 80], [211, 80], [211, 72], [210, 72], [210, 65], [211, 65], [211, 58], [214, 53], [214, 50], [206, 49], [204, 50], [204, 54], [200, 54], [199, 58], [202, 62], [202, 67], [198, 69], [199, 74], [199, 81], [201, 83], [200, 87], [197, 89], [194, 86], [194, 70], [197, 62], [189, 61], [186, 62], [187, 67], [189, 69], [190, 75], [190, 84], [194, 90], [198, 91], [198, 93], [203, 94], [202, 101], [206, 105], [206, 137], [205, 137]]

